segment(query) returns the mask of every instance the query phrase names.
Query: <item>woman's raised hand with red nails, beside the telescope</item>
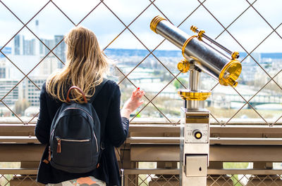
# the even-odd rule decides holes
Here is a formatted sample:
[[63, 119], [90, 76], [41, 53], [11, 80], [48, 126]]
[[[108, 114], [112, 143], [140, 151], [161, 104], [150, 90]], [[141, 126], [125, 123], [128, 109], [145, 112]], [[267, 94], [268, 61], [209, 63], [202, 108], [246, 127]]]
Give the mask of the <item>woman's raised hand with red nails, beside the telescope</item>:
[[140, 105], [142, 105], [144, 102], [141, 100], [144, 94], [145, 92], [141, 91], [139, 87], [136, 88], [131, 97], [123, 105], [123, 109], [121, 109], [121, 117], [126, 117], [129, 119], [131, 112], [135, 111], [135, 109], [140, 107]]

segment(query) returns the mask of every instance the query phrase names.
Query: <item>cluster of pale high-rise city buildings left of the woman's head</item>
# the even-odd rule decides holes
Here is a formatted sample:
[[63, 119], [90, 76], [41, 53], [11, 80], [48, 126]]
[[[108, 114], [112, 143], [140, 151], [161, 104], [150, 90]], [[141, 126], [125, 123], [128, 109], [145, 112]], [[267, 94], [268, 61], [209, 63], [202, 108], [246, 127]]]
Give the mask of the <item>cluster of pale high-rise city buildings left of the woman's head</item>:
[[[59, 46], [56, 46], [63, 39], [63, 35], [56, 35], [54, 39], [25, 39], [23, 35], [16, 35], [11, 41], [11, 47], [5, 47], [0, 53], [0, 97], [3, 98], [6, 93], [21, 81], [25, 75], [39, 63], [37, 68], [32, 70], [28, 74], [28, 78], [24, 78], [23, 81], [13, 88], [13, 91], [6, 95], [3, 99], [6, 105], [11, 106], [12, 109], [18, 110], [17, 113], [24, 115], [23, 107], [38, 107], [39, 106], [39, 88], [42, 87], [44, 81], [54, 70], [63, 67], [61, 61], [66, 61], [66, 44], [61, 42]], [[53, 53], [49, 54], [47, 58], [45, 56], [54, 48]], [[5, 57], [7, 56], [7, 58]], [[59, 60], [59, 59], [60, 60]], [[9, 59], [9, 60], [8, 60]], [[12, 64], [10, 60], [18, 67]], [[22, 73], [23, 72], [23, 73]], [[31, 80], [31, 81], [30, 81]], [[32, 83], [33, 81], [33, 83]], [[36, 85], [36, 86], [35, 86]], [[27, 105], [27, 106], [25, 106]], [[4, 105], [0, 105], [0, 115], [6, 115], [7, 110]], [[17, 112], [17, 111], [16, 111]], [[10, 112], [11, 114], [11, 112]], [[8, 114], [9, 115], [9, 114]]]

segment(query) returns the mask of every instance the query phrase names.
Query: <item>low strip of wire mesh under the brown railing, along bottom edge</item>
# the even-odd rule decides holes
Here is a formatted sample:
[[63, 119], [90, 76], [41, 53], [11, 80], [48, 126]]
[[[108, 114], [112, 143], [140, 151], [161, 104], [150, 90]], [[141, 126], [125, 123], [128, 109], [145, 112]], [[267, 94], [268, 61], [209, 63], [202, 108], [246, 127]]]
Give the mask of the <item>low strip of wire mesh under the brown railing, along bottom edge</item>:
[[[0, 174], [1, 186], [41, 186], [36, 175]], [[125, 186], [178, 186], [179, 175], [125, 175]], [[208, 175], [208, 186], [274, 186], [282, 185], [281, 175]]]

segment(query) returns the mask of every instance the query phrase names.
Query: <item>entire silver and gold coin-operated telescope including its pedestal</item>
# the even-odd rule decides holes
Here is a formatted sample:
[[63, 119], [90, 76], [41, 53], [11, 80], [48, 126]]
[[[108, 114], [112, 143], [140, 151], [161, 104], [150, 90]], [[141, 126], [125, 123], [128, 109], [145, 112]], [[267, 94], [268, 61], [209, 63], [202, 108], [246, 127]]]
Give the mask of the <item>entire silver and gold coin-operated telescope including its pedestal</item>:
[[192, 26], [190, 36], [160, 16], [150, 28], [180, 48], [183, 60], [178, 62], [180, 72], [190, 71], [189, 89], [179, 90], [184, 100], [180, 127], [180, 185], [207, 185], [209, 166], [209, 111], [204, 109], [210, 91], [200, 89], [200, 72], [206, 72], [223, 86], [235, 87], [242, 66], [238, 52], [231, 52], [211, 39], [204, 30]]

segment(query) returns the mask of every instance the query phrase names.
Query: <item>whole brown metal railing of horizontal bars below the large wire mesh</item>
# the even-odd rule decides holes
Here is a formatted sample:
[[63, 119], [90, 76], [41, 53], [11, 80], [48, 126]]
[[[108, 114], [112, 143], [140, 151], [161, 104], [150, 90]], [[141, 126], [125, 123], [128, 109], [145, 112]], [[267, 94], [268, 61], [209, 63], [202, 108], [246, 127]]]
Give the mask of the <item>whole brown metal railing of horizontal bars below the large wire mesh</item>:
[[[179, 185], [180, 126], [164, 119], [142, 120], [130, 123], [125, 145], [116, 150], [124, 185]], [[35, 138], [34, 127], [34, 122], [1, 120], [0, 166], [20, 162], [0, 168], [1, 186], [40, 185], [35, 180], [44, 145]], [[282, 185], [281, 165], [274, 166], [282, 162], [281, 123], [270, 127], [241, 120], [220, 126], [212, 121], [210, 137], [207, 185]]]

